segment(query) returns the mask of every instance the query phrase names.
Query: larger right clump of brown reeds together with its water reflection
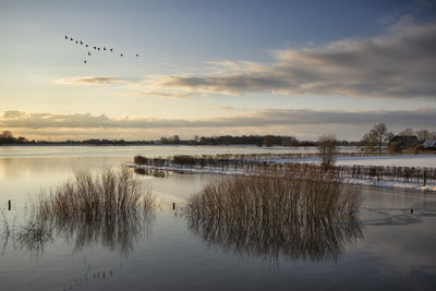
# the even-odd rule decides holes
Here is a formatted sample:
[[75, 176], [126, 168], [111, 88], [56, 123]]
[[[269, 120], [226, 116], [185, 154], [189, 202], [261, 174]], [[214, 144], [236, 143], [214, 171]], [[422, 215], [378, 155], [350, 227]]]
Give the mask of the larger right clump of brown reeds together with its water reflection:
[[361, 194], [334, 175], [310, 171], [213, 182], [190, 199], [187, 225], [206, 242], [238, 254], [336, 260], [347, 243], [362, 238]]

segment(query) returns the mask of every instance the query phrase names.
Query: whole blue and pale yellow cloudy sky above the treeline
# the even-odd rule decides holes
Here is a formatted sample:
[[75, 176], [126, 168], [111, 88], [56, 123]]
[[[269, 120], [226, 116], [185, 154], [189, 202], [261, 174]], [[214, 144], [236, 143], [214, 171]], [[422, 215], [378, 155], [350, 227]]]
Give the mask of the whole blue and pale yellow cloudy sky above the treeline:
[[0, 39], [28, 138], [436, 130], [436, 1], [1, 0]]

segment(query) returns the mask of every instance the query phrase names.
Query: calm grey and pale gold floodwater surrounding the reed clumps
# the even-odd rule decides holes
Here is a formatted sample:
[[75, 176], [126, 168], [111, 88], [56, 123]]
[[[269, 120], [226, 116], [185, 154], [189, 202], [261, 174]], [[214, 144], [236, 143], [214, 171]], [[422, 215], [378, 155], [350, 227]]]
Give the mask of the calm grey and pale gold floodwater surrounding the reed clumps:
[[[0, 150], [0, 290], [436, 290], [436, 195], [431, 193], [364, 187], [358, 226], [332, 228], [298, 248], [287, 242], [272, 250], [276, 244], [242, 232], [217, 240], [215, 230], [195, 231], [172, 210], [172, 203], [183, 205], [216, 177], [138, 175], [157, 196], [155, 216], [124, 221], [123, 233], [58, 229], [52, 240], [26, 244], [5, 235], [3, 220], [20, 230], [33, 195], [74, 171], [118, 167], [150, 150], [31, 149]], [[159, 150], [171, 155], [168, 147]]]

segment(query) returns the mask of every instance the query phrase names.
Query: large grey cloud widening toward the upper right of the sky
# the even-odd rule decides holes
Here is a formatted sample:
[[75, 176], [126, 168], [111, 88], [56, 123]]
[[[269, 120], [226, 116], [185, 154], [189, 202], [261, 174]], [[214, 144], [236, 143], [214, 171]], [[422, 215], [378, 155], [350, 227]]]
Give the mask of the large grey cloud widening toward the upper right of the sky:
[[215, 74], [167, 76], [161, 88], [198, 93], [436, 97], [436, 24], [403, 17], [382, 36], [275, 51], [275, 63], [208, 62]]

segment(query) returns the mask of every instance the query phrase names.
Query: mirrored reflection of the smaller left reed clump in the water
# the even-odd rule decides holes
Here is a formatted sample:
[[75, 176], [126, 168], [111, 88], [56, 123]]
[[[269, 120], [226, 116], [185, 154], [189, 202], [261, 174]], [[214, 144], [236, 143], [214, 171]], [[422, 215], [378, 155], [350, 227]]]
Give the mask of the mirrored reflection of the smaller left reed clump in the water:
[[74, 252], [93, 245], [118, 251], [123, 256], [134, 250], [141, 238], [149, 237], [155, 213], [131, 211], [105, 217], [75, 216], [65, 219], [32, 216], [16, 229], [3, 230], [2, 254], [12, 239], [15, 248], [38, 258], [55, 241], [65, 239]]

